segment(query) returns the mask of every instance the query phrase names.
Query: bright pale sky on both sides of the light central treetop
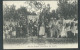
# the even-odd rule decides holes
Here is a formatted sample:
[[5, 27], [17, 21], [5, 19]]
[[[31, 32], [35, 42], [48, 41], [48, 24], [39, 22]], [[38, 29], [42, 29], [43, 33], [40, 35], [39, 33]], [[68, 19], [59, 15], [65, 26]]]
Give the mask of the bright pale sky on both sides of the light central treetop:
[[[58, 8], [57, 1], [43, 1], [45, 4], [50, 4], [51, 10], [56, 10]], [[21, 6], [26, 7], [25, 1], [3, 1], [3, 5], [15, 5], [16, 9]], [[51, 11], [50, 10], [50, 11]]]

